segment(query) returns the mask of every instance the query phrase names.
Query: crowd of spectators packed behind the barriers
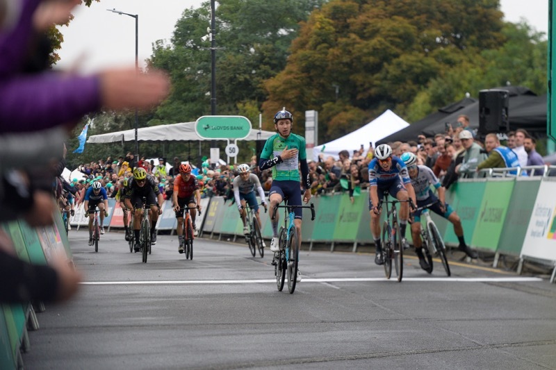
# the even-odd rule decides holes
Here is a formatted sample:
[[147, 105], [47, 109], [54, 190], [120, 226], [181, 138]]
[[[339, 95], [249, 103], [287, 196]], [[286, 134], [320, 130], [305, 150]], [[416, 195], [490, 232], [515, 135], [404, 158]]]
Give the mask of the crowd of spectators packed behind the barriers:
[[[490, 139], [489, 139], [490, 137]], [[444, 187], [449, 188], [457, 178], [475, 177], [477, 170], [485, 168], [507, 167], [497, 149], [500, 139], [493, 134], [486, 135], [483, 140], [469, 128], [469, 119], [465, 115], [458, 117], [455, 128], [447, 126], [445, 133], [437, 133], [434, 137], [418, 135], [416, 140], [408, 142], [389, 142], [393, 154], [400, 157], [403, 153], [411, 152], [417, 155], [418, 163], [430, 167], [439, 177]], [[518, 129], [506, 135], [505, 144], [512, 149], [521, 167], [543, 165], [541, 155], [537, 153], [536, 140], [527, 131]], [[338, 159], [323, 155], [318, 161], [308, 159], [309, 176], [311, 178], [311, 192], [313, 196], [345, 192], [354, 201], [361, 190], [366, 189], [368, 182], [368, 164], [373, 159], [373, 148], [365, 151], [362, 147], [338, 153]], [[136, 161], [132, 153], [119, 158], [108, 157], [106, 160], [83, 164], [79, 167], [83, 178], [74, 178], [72, 185], [78, 187], [81, 194], [94, 180], [101, 180], [108, 196], [115, 196], [117, 190], [123, 186], [124, 178], [131, 176], [133, 168], [143, 167], [147, 174], [154, 176], [159, 190], [165, 199], [172, 199], [175, 170], [185, 161], [175, 157], [172, 166], [166, 165], [165, 158], [147, 160], [145, 157]], [[261, 171], [257, 165], [256, 156], [248, 163], [254, 174], [259, 176], [265, 191], [270, 190], [272, 184], [272, 170]], [[541, 169], [524, 171], [527, 174], [542, 174]], [[194, 169], [202, 197], [225, 196], [233, 199], [232, 185], [237, 172], [234, 165], [213, 165], [210, 160], [204, 160], [202, 167]], [[79, 204], [79, 196], [77, 203]]]

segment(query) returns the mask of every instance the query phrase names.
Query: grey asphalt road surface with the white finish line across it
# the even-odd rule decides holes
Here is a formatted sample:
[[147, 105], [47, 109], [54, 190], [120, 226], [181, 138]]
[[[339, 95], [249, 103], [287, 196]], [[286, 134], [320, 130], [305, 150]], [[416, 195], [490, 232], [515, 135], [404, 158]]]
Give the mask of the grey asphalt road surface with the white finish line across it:
[[122, 233], [99, 252], [70, 231], [78, 296], [48, 305], [26, 369], [556, 369], [556, 285], [452, 261], [447, 278], [408, 253], [402, 283], [366, 253], [302, 251], [277, 292], [266, 250], [159, 235], [148, 262]]

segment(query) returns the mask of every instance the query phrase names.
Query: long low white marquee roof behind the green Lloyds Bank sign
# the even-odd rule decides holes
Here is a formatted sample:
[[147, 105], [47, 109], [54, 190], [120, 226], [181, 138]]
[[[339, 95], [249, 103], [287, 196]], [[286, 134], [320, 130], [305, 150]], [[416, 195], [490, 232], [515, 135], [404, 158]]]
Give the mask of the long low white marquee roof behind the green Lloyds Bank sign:
[[[249, 136], [245, 137], [243, 140], [266, 140], [274, 134], [275, 133], [271, 131], [259, 131], [252, 128]], [[195, 122], [139, 128], [137, 131], [137, 138], [140, 142], [204, 140], [195, 133]], [[132, 142], [134, 140], [135, 130], [131, 129], [114, 133], [92, 135], [88, 138], [87, 142], [97, 144], [122, 141]]]

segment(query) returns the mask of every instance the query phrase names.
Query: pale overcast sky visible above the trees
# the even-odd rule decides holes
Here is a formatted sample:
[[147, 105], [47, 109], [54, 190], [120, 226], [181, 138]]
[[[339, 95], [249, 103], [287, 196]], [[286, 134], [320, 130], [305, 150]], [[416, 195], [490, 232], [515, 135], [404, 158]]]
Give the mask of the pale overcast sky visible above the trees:
[[[208, 0], [207, 0], [208, 1]], [[548, 32], [549, 0], [500, 0], [505, 19], [519, 22], [523, 17], [537, 31]], [[81, 6], [64, 35], [59, 51], [61, 68], [76, 67], [90, 72], [102, 67], [133, 65], [135, 62], [135, 19], [106, 9], [139, 15], [139, 63], [152, 53], [156, 40], [169, 42], [174, 25], [186, 8], [198, 8], [202, 0], [101, 0], [90, 8]], [[218, 11], [218, 1], [217, 1]], [[207, 24], [208, 26], [208, 24]], [[210, 58], [210, 53], [207, 53]]]

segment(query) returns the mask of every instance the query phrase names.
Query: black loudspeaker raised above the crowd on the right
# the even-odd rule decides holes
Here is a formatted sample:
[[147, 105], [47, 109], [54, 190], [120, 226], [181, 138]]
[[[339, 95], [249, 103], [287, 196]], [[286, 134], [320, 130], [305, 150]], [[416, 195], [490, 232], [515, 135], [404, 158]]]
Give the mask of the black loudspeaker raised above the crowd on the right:
[[479, 133], [509, 131], [508, 110], [507, 90], [481, 90], [479, 92]]

